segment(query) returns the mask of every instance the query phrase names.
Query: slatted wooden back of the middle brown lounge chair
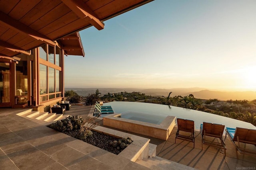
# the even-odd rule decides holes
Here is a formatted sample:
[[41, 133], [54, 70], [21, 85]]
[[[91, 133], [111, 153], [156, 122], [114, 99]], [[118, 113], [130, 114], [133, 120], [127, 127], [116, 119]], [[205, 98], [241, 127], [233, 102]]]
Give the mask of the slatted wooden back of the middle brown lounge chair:
[[222, 137], [225, 125], [220, 125], [216, 123], [203, 123], [202, 135], [211, 137]]

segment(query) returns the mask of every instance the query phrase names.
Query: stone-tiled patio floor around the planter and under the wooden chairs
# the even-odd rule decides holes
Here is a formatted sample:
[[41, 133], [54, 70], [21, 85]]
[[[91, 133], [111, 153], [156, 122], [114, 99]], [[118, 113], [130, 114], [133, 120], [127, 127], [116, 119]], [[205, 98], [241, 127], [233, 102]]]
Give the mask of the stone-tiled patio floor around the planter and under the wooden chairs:
[[[45, 126], [47, 122], [16, 115], [21, 110], [0, 109], [0, 169], [148, 169], [141, 164], [150, 164], [150, 159], [138, 160], [137, 164], [54, 131]], [[66, 115], [87, 117], [90, 111], [91, 106], [72, 106]], [[174, 127], [167, 141], [146, 137], [157, 145], [156, 156], [196, 169], [256, 168], [256, 157], [239, 154], [236, 159], [228, 137], [224, 138], [227, 147], [224, 157], [222, 150], [214, 147], [204, 145], [201, 150], [198, 131], [195, 148], [193, 143], [179, 139], [175, 144], [175, 133]]]

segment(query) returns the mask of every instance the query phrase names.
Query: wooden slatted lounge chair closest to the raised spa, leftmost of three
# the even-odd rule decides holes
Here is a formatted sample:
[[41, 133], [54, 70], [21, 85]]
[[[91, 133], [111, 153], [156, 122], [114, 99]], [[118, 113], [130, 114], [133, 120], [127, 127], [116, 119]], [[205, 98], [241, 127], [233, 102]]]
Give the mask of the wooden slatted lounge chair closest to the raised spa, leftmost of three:
[[[176, 132], [175, 143], [176, 143], [176, 139], [182, 139], [182, 140], [185, 140], [185, 141], [193, 142], [194, 147], [195, 147], [195, 125], [194, 125], [194, 121], [177, 118], [177, 126], [178, 126], [178, 130]], [[189, 133], [191, 133], [191, 135], [189, 135], [189, 136], [181, 135], [180, 131], [189, 132]]]

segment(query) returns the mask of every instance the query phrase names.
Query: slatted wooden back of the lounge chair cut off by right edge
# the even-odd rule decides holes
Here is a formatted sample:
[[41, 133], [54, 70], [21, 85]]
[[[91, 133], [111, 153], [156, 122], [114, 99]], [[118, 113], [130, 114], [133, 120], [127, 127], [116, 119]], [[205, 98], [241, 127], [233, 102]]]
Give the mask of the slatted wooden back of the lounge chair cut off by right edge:
[[236, 127], [233, 141], [256, 145], [256, 129]]

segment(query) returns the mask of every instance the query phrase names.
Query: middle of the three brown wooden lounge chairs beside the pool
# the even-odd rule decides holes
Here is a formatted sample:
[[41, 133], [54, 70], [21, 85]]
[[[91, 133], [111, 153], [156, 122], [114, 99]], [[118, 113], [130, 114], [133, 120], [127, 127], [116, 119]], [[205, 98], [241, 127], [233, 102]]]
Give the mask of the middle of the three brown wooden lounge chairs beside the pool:
[[[223, 141], [222, 134], [224, 132], [225, 125], [220, 125], [216, 123], [207, 123], [204, 122], [200, 126], [200, 133], [202, 135], [202, 150], [203, 150], [203, 144], [210, 145], [213, 147], [217, 147], [220, 149], [224, 149], [224, 154], [226, 156], [226, 144]], [[206, 137], [214, 137], [217, 140], [220, 141], [215, 142], [215, 139], [212, 141], [206, 140]]]

